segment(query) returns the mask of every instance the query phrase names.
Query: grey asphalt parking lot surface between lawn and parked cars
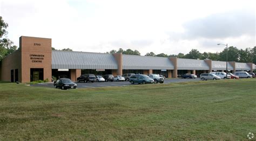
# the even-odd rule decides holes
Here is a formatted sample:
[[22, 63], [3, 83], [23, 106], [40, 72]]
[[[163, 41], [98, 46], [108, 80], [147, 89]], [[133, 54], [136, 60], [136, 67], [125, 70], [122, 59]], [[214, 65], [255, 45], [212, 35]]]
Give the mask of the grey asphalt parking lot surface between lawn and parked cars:
[[[187, 82], [187, 81], [200, 81], [200, 79], [165, 79], [164, 83], [177, 83], [177, 82]], [[130, 86], [131, 83], [128, 81], [114, 81], [114, 82], [77, 82], [77, 88], [96, 88], [96, 87], [113, 87], [113, 86]], [[39, 87], [53, 87], [53, 83], [38, 83], [32, 84], [31, 86]]]

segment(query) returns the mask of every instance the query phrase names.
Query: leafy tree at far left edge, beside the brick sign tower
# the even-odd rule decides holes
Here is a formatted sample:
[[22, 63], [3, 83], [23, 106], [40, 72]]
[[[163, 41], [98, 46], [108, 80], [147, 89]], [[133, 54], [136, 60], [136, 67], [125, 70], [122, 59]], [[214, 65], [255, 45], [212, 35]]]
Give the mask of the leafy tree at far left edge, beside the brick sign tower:
[[17, 50], [17, 46], [12, 46], [14, 43], [7, 38], [7, 27], [8, 24], [0, 16], [0, 60]]

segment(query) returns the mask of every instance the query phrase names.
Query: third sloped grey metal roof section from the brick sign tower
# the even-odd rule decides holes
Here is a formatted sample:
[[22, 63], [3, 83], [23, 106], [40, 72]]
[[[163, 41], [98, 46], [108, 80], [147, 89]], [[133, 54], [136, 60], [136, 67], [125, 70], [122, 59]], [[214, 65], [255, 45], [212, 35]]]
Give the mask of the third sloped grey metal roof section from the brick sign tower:
[[178, 70], [209, 70], [204, 60], [177, 58]]

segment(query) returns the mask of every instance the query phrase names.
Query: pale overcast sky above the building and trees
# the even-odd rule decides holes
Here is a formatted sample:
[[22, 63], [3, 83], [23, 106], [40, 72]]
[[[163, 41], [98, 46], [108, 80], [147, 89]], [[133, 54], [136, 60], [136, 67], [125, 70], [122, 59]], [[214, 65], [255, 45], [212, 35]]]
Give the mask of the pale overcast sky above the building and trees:
[[128, 48], [141, 55], [221, 52], [256, 44], [256, 1], [0, 0], [8, 38], [51, 38], [58, 50]]

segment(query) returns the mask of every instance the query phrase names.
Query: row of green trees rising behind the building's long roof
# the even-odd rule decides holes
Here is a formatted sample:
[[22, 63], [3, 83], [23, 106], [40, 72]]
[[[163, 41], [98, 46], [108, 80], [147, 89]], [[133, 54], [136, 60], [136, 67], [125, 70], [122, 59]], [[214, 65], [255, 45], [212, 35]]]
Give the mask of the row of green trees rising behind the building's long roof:
[[[145, 56], [151, 56], [151, 57], [177, 57], [177, 58], [185, 58], [185, 59], [211, 59], [211, 60], [216, 60], [216, 61], [226, 61], [226, 51], [227, 49], [225, 48], [221, 52], [204, 52], [200, 53], [197, 49], [192, 49], [189, 53], [183, 54], [183, 53], [178, 53], [178, 54], [165, 54], [165, 53], [160, 53], [160, 54], [155, 54], [153, 52], [146, 53]], [[110, 52], [106, 53], [123, 53], [123, 54], [130, 54], [130, 55], [140, 55], [139, 51], [137, 50], [123, 50], [122, 48], [119, 48], [118, 51], [116, 50], [111, 50]], [[235, 62], [253, 62], [256, 64], [256, 46], [253, 48], [245, 48], [243, 49], [238, 49], [237, 47], [230, 46], [228, 47], [228, 52], [227, 52], [227, 61], [235, 61]]]

